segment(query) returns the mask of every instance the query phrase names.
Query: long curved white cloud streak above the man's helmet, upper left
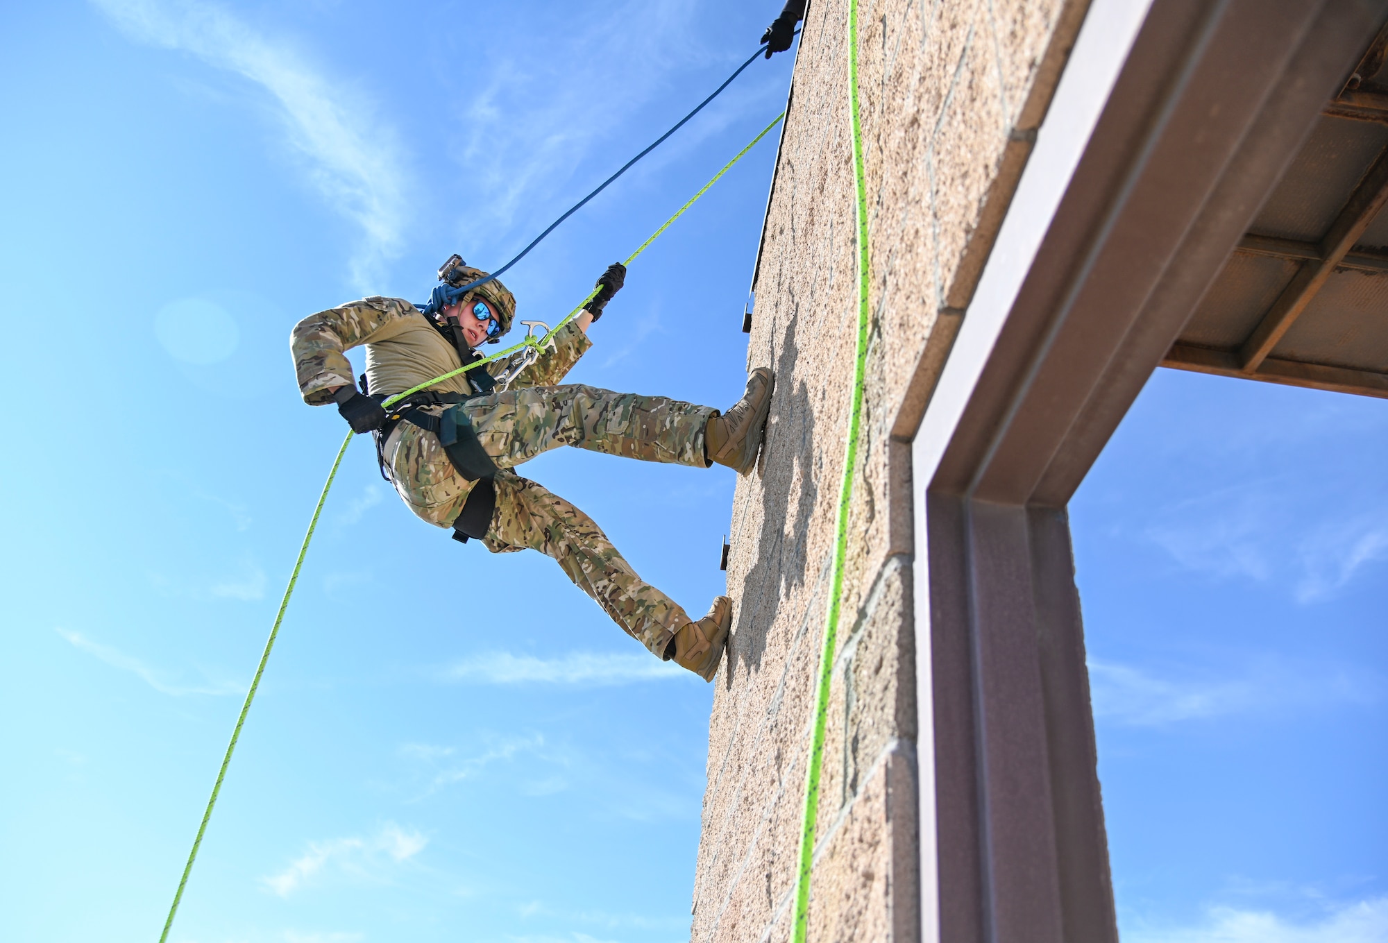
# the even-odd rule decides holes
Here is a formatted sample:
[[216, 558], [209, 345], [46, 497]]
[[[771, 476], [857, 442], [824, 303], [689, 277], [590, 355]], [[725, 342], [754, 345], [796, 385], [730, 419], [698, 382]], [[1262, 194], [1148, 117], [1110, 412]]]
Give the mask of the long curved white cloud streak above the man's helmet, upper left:
[[351, 261], [357, 287], [376, 280], [400, 251], [405, 173], [390, 128], [364, 105], [359, 89], [315, 71], [283, 39], [266, 36], [219, 6], [200, 0], [92, 0], [139, 42], [190, 53], [261, 86], [312, 186], [362, 229]]

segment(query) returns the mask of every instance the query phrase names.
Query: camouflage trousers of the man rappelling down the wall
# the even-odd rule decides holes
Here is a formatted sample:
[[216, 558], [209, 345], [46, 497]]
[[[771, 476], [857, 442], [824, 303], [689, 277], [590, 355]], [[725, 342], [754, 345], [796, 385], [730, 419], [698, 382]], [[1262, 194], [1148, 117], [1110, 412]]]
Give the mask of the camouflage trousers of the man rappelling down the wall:
[[[486, 548], [493, 553], [530, 548], [554, 557], [623, 631], [655, 655], [663, 653], [675, 631], [691, 621], [688, 614], [641, 580], [591, 517], [511, 469], [561, 445], [702, 469], [708, 465], [704, 427], [716, 410], [579, 384], [508, 390], [454, 408], [468, 416], [483, 449], [501, 469], [496, 477], [497, 508], [482, 541]], [[405, 473], [422, 488], [437, 491], [446, 477], [461, 478], [433, 434], [419, 431], [422, 438], [412, 437], [418, 438], [415, 444], [400, 444], [400, 451], [411, 452], [414, 459], [391, 460], [397, 488], [416, 514], [447, 527], [461, 510], [465, 492], [462, 501], [455, 499], [457, 510], [426, 514], [409, 501], [411, 481], [401, 481]], [[447, 467], [434, 467], [440, 460]]]

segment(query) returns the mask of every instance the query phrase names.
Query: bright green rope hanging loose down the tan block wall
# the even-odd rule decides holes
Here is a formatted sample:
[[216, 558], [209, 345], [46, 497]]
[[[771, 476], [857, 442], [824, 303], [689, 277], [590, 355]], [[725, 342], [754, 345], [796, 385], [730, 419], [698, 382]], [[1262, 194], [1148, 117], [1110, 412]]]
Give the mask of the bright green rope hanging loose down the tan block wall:
[[848, 406], [848, 447], [844, 455], [844, 480], [838, 487], [834, 514], [834, 557], [829, 570], [829, 612], [824, 616], [824, 642], [819, 653], [819, 684], [815, 688], [815, 728], [809, 741], [809, 764], [805, 771], [805, 814], [799, 833], [799, 874], [795, 882], [794, 943], [805, 943], [809, 929], [809, 875], [815, 864], [815, 824], [819, 818], [819, 774], [824, 760], [824, 721], [829, 716], [829, 684], [834, 673], [834, 641], [844, 591], [844, 556], [848, 552], [848, 513], [854, 494], [858, 462], [858, 422], [863, 405], [863, 366], [867, 361], [869, 269], [867, 269], [867, 194], [863, 183], [863, 140], [858, 122], [858, 0], [848, 1], [848, 116], [854, 144], [854, 209], [858, 216], [858, 349], [854, 356], [852, 401]]

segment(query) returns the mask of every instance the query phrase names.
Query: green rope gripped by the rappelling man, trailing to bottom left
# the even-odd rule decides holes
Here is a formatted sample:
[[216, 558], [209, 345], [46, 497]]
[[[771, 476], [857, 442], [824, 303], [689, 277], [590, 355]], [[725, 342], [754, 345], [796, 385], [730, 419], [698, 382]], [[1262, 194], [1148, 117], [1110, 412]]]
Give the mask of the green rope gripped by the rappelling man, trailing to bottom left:
[[[677, 211], [675, 211], [673, 216], [670, 216], [669, 219], [666, 219], [665, 223], [659, 229], [657, 229], [654, 233], [651, 233], [651, 237], [647, 239], [644, 243], [641, 243], [637, 247], [637, 250], [634, 252], [632, 252], [626, 258], [625, 265], [630, 265], [636, 259], [637, 255], [640, 255], [641, 252], [644, 252], [645, 248], [651, 243], [655, 241], [657, 236], [659, 236], [661, 233], [663, 233], [666, 229], [670, 227], [670, 223], [673, 223], [676, 219], [679, 219], [680, 216], [683, 216], [684, 212], [690, 207], [693, 207], [698, 201], [700, 197], [702, 197], [705, 193], [708, 193], [709, 187], [712, 187], [715, 183], [718, 183], [718, 179], [720, 176], [723, 176], [725, 173], [727, 173], [727, 171], [734, 164], [737, 164], [740, 159], [743, 159], [743, 155], [747, 154], [747, 151], [752, 150], [752, 147], [756, 144], [756, 141], [759, 141], [761, 139], [766, 137], [766, 135], [770, 133], [772, 128], [775, 128], [776, 125], [779, 125], [780, 121], [781, 121], [781, 118], [784, 118], [784, 116], [786, 116], [784, 111], [781, 114], [776, 115], [776, 119], [772, 121], [772, 123], [766, 125], [766, 128], [762, 129], [762, 133], [759, 133], [756, 137], [754, 137], [747, 144], [747, 147], [744, 147], [743, 150], [740, 150], [737, 153], [737, 155], [731, 161], [729, 161], [727, 164], [723, 165], [723, 169], [720, 169], [718, 173], [715, 173], [713, 178], [708, 183], [705, 183], [702, 187], [700, 187], [698, 193], [695, 193], [693, 197], [690, 197], [688, 200], [686, 200], [684, 205], [680, 207]], [[515, 352], [518, 352], [518, 351], [520, 351], [520, 349], [523, 349], [526, 347], [543, 348], [545, 344], [550, 343], [550, 338], [552, 338], [559, 331], [561, 327], [564, 327], [565, 325], [568, 325], [580, 311], [583, 311], [583, 305], [589, 304], [589, 301], [593, 300], [593, 295], [595, 295], [597, 291], [598, 291], [597, 286], [594, 286], [593, 291], [589, 293], [589, 295], [583, 300], [583, 302], [579, 304], [577, 308], [575, 308], [573, 311], [570, 311], [564, 318], [564, 320], [561, 320], [554, 327], [554, 330], [551, 330], [548, 334], [544, 336], [544, 338], [526, 337], [519, 344], [514, 344], [512, 347], [508, 347], [504, 351], [493, 354], [491, 356], [489, 356], [486, 359], [475, 361], [473, 363], [469, 363], [468, 366], [464, 366], [464, 367], [458, 367], [457, 370], [450, 370], [448, 373], [444, 373], [443, 376], [437, 376], [433, 380], [429, 380], [428, 383], [421, 383], [418, 387], [412, 387], [409, 390], [405, 390], [401, 394], [390, 397], [389, 399], [386, 399], [384, 405], [389, 406], [391, 404], [400, 402], [405, 397], [408, 397], [408, 395], [411, 395], [414, 392], [419, 392], [421, 390], [423, 390], [426, 387], [432, 387], [436, 383], [440, 383], [440, 381], [447, 380], [450, 377], [455, 377], [459, 373], [466, 373], [468, 370], [471, 370], [473, 367], [477, 367], [477, 366], [482, 366], [483, 363], [491, 363], [493, 361], [498, 361], [501, 358], [511, 356], [512, 354], [515, 354]], [[164, 921], [164, 932], [160, 933], [160, 943], [167, 943], [168, 935], [169, 935], [169, 929], [174, 926], [174, 917], [178, 914], [178, 906], [183, 900], [183, 888], [187, 886], [187, 876], [193, 872], [193, 861], [197, 860], [197, 850], [203, 846], [203, 835], [207, 832], [207, 822], [212, 818], [212, 807], [217, 806], [217, 796], [222, 792], [222, 781], [226, 778], [226, 767], [230, 765], [230, 763], [232, 763], [232, 753], [236, 752], [236, 742], [242, 736], [242, 727], [246, 724], [246, 714], [250, 713], [251, 702], [255, 700], [255, 692], [260, 689], [261, 675], [265, 674], [265, 663], [269, 661], [271, 649], [275, 648], [275, 638], [279, 635], [279, 625], [280, 625], [280, 623], [285, 621], [285, 610], [289, 609], [289, 599], [290, 599], [290, 596], [294, 595], [294, 584], [298, 582], [298, 571], [300, 571], [300, 569], [303, 569], [303, 566], [304, 566], [304, 557], [308, 555], [308, 544], [310, 544], [310, 541], [314, 539], [314, 530], [318, 527], [318, 516], [323, 512], [323, 503], [328, 501], [328, 492], [333, 487], [333, 478], [337, 477], [337, 467], [343, 463], [343, 455], [347, 453], [347, 447], [351, 444], [351, 440], [353, 440], [353, 433], [347, 433], [347, 438], [343, 440], [341, 448], [337, 449], [337, 458], [333, 459], [332, 472], [328, 473], [328, 481], [323, 483], [323, 491], [322, 491], [322, 494], [318, 495], [318, 505], [314, 508], [314, 516], [308, 521], [308, 533], [304, 534], [304, 542], [298, 548], [298, 559], [294, 560], [294, 571], [289, 577], [289, 585], [285, 588], [285, 596], [279, 600], [279, 612], [275, 613], [275, 625], [269, 630], [269, 638], [265, 641], [265, 650], [261, 652], [261, 660], [260, 660], [260, 664], [255, 668], [255, 677], [251, 680], [250, 691], [246, 692], [246, 700], [242, 703], [242, 713], [236, 717], [236, 727], [232, 729], [232, 739], [226, 745], [226, 754], [222, 757], [222, 767], [217, 771], [217, 782], [212, 785], [212, 796], [207, 800], [207, 810], [203, 813], [203, 821], [197, 827], [197, 836], [193, 839], [193, 850], [189, 851], [187, 864], [183, 865], [183, 876], [179, 878], [178, 890], [174, 893], [174, 904], [169, 907], [168, 919]]]

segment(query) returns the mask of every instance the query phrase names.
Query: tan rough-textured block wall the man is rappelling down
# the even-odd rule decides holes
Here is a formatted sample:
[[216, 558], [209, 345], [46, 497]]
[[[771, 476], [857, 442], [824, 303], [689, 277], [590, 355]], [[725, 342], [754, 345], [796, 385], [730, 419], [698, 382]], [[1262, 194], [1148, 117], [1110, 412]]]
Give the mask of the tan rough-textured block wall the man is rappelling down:
[[[919, 936], [909, 438], [1088, 0], [862, 0], [872, 334], [811, 940]], [[768, 7], [768, 15], [773, 15]], [[738, 483], [693, 940], [790, 937], [856, 318], [847, 0], [812, 0], [755, 276], [776, 370]]]

